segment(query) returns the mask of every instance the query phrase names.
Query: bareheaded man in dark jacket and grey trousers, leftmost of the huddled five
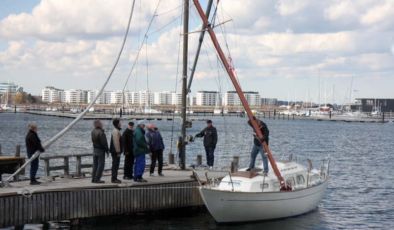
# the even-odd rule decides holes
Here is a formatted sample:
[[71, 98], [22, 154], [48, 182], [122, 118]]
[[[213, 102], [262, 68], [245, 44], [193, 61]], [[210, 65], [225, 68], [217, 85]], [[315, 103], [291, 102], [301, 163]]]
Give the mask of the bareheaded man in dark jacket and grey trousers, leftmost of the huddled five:
[[107, 143], [107, 137], [102, 130], [102, 122], [95, 120], [93, 122], [95, 129], [92, 130], [92, 142], [93, 142], [93, 171], [92, 171], [92, 183], [104, 183], [101, 179], [102, 170], [104, 170], [105, 164], [105, 153], [109, 157], [109, 149]]

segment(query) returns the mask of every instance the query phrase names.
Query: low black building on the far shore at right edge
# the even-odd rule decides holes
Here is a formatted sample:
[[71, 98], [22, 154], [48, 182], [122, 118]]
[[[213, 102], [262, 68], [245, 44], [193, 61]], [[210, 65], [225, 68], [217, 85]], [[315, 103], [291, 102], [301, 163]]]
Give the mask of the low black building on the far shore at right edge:
[[362, 112], [372, 112], [375, 109], [382, 112], [394, 112], [394, 99], [355, 99], [355, 103], [351, 104], [350, 108], [353, 111]]

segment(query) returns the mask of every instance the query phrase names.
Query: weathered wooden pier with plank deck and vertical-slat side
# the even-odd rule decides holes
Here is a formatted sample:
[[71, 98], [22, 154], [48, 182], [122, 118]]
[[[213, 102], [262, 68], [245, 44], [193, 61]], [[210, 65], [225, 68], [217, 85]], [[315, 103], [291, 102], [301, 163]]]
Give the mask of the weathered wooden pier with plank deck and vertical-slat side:
[[[192, 168], [174, 168], [175, 164], [164, 166], [165, 176], [158, 176], [155, 171], [151, 177], [145, 172], [147, 183], [123, 180], [120, 173], [122, 184], [113, 184], [110, 172], [104, 172], [104, 184], [92, 183], [89, 174], [73, 179], [41, 179], [41, 185], [11, 181], [12, 187], [0, 188], [0, 228], [60, 220], [70, 220], [75, 225], [84, 217], [203, 205], [198, 182], [191, 178]], [[225, 175], [226, 170], [230, 169], [218, 173]], [[200, 179], [206, 178], [205, 168], [196, 167], [196, 172]]]

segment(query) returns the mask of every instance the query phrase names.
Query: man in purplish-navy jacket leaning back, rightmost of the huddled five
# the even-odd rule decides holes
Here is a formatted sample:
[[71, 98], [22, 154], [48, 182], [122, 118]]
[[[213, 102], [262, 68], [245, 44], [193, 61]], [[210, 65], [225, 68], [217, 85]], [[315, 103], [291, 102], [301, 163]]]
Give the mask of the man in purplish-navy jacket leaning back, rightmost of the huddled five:
[[163, 151], [164, 151], [164, 143], [162, 134], [158, 131], [157, 128], [152, 123], [146, 125], [148, 128], [148, 132], [145, 134], [146, 144], [148, 145], [148, 149], [150, 151], [149, 156], [152, 158], [151, 167], [149, 169], [149, 176], [153, 176], [153, 172], [155, 171], [156, 160], [159, 162], [158, 173], [159, 176], [164, 176], [162, 173], [163, 170]]

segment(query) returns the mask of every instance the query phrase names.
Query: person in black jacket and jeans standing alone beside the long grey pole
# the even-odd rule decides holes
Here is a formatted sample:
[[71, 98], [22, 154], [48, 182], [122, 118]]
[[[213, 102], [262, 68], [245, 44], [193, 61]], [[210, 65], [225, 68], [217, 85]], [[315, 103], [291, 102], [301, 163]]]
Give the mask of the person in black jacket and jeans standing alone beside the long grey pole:
[[[34, 153], [39, 150], [40, 152], [45, 152], [45, 149], [41, 145], [41, 140], [38, 138], [37, 135], [37, 125], [30, 123], [28, 125], [29, 132], [26, 135], [25, 141], [26, 141], [26, 153], [28, 155], [28, 158], [32, 158]], [[35, 158], [31, 163], [30, 163], [30, 184], [31, 185], [39, 185], [41, 182], [37, 181], [35, 179], [35, 174], [37, 173], [38, 170], [38, 157]]]

